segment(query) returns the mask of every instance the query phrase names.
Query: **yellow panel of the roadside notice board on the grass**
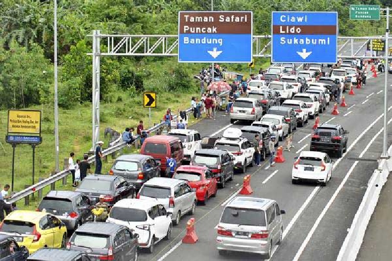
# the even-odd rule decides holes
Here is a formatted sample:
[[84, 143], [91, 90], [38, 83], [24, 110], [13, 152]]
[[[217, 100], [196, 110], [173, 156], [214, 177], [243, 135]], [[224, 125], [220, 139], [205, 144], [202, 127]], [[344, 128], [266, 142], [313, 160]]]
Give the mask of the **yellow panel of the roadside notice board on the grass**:
[[8, 133], [41, 134], [41, 111], [8, 110]]

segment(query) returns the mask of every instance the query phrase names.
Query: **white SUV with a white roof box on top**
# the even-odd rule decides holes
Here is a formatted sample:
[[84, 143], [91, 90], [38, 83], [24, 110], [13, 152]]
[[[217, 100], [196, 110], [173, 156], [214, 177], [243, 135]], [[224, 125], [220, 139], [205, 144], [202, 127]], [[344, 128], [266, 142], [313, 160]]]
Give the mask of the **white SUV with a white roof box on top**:
[[240, 129], [227, 128], [223, 132], [223, 138], [215, 142], [215, 148], [224, 149], [233, 154], [234, 169], [241, 169], [245, 173], [247, 166], [253, 166], [254, 147], [241, 135]]

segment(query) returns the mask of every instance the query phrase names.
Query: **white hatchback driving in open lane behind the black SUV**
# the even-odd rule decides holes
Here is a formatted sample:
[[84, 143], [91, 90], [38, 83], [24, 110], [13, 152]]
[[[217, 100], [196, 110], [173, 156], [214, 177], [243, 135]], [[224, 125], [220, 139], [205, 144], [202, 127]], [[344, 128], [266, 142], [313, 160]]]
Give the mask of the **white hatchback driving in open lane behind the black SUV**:
[[292, 170], [292, 183], [313, 181], [325, 186], [332, 176], [332, 163], [328, 154], [318, 151], [301, 151], [295, 157]]

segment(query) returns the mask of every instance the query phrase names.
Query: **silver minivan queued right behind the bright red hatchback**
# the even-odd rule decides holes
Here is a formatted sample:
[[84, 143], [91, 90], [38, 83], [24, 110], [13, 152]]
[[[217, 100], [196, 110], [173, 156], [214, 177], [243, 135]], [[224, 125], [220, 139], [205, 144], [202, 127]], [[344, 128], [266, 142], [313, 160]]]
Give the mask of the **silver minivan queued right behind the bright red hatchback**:
[[196, 192], [184, 180], [152, 178], [143, 184], [136, 198], [156, 198], [171, 212], [174, 225], [184, 214], [195, 214]]

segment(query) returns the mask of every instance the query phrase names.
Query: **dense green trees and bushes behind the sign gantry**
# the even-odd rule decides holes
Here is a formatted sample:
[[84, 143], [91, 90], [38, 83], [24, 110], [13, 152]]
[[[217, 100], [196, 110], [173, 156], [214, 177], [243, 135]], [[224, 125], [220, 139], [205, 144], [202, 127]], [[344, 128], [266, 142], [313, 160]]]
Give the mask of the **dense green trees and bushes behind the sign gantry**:
[[[210, 0], [57, 0], [59, 104], [91, 100], [91, 38], [102, 33], [176, 34], [181, 10], [211, 10]], [[214, 10], [252, 10], [254, 34], [269, 34], [273, 10], [338, 11], [340, 34], [382, 33], [385, 22], [348, 19], [349, 4], [383, 4], [388, 0], [215, 0]], [[104, 47], [104, 43], [101, 43]], [[53, 1], [0, 2], [0, 109], [47, 104], [53, 97]], [[195, 88], [190, 80], [198, 65], [178, 64], [165, 57], [104, 57], [101, 98], [116, 92], [131, 97], [144, 89], [181, 91]]]

